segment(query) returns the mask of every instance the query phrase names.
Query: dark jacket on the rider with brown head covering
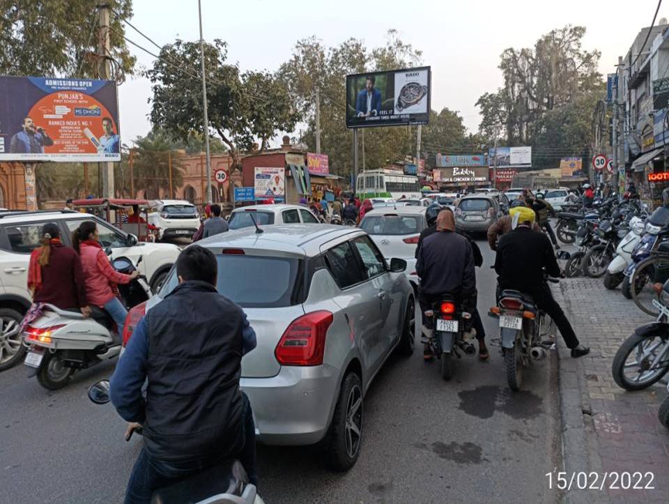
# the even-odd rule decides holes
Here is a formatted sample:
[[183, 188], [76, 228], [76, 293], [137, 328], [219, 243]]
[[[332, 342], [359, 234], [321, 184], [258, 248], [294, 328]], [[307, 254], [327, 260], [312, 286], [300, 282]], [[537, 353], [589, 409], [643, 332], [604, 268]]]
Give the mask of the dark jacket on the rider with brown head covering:
[[472, 246], [457, 233], [438, 231], [425, 238], [418, 252], [416, 272], [425, 296], [452, 293], [469, 298], [476, 293]]

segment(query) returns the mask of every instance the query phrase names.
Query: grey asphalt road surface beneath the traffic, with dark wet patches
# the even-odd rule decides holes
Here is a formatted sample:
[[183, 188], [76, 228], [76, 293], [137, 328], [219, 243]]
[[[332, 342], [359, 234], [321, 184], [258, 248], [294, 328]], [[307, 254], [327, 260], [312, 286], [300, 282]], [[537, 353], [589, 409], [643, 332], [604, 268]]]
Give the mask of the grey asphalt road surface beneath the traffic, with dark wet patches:
[[[494, 303], [493, 254], [478, 271], [479, 310]], [[484, 316], [489, 337], [495, 322]], [[418, 350], [418, 349], [417, 349]], [[498, 347], [490, 362], [467, 358], [456, 378], [420, 351], [392, 357], [364, 405], [364, 444], [357, 465], [334, 474], [307, 448], [259, 448], [261, 491], [268, 503], [295, 502], [555, 502], [544, 474], [560, 466], [555, 356], [507, 389]], [[22, 366], [0, 373], [0, 502], [113, 503], [141, 441], [123, 441], [111, 406], [86, 397], [113, 365], [75, 375], [47, 392]]]

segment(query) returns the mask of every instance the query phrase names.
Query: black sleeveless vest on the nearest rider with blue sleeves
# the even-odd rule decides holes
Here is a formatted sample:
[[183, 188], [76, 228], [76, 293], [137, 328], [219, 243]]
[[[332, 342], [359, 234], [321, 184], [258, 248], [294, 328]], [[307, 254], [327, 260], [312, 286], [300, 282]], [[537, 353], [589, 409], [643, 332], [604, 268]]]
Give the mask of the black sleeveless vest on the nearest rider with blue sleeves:
[[144, 445], [161, 460], [233, 455], [243, 446], [243, 311], [206, 283], [179, 284], [145, 316]]

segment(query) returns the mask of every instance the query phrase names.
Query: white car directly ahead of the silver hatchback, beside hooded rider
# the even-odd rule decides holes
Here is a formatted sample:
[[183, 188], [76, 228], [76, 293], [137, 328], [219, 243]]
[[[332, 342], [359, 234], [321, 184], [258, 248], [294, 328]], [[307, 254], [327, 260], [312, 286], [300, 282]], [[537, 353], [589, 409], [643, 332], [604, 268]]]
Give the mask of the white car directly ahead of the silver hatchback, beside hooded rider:
[[360, 229], [374, 240], [383, 257], [406, 261], [406, 276], [414, 289], [420, 279], [416, 272], [416, 247], [420, 232], [427, 227], [424, 206], [399, 206], [378, 208], [364, 214]]

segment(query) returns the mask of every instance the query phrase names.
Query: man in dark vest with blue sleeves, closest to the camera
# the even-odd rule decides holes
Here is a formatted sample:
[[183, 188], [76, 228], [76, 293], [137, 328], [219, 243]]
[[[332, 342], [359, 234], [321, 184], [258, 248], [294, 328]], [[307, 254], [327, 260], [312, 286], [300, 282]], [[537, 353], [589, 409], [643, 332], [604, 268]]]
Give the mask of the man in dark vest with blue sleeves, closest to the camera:
[[139, 321], [111, 380], [112, 403], [131, 422], [126, 435], [144, 429], [125, 503], [148, 503], [155, 489], [230, 458], [256, 484], [255, 428], [239, 390], [256, 335], [243, 310], [217, 293], [210, 250], [185, 249], [176, 274], [178, 286]]

